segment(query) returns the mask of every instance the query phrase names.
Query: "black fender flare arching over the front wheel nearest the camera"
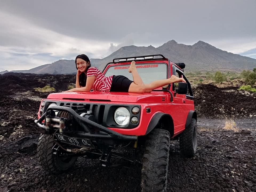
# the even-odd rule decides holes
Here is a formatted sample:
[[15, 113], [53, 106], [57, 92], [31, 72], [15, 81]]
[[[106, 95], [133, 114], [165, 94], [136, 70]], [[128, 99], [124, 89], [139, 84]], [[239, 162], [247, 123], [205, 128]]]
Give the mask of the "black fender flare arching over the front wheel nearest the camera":
[[146, 135], [157, 126], [158, 122], [161, 121], [162, 118], [165, 118], [168, 121], [169, 126], [166, 130], [169, 131], [170, 136], [172, 137], [174, 134], [173, 118], [169, 114], [160, 112], [154, 114], [153, 118], [150, 120], [149, 125], [147, 126]]

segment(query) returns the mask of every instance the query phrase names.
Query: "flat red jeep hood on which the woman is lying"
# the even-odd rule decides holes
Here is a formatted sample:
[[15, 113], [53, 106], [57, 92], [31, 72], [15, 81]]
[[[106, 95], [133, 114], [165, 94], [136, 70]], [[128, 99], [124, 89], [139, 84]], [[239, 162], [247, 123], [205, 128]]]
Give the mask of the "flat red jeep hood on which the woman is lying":
[[[169, 98], [169, 99], [168, 99]], [[51, 93], [47, 99], [77, 100], [77, 101], [107, 101], [128, 103], [166, 103], [170, 94], [162, 91], [151, 93], [124, 93], [124, 92], [62, 92]]]

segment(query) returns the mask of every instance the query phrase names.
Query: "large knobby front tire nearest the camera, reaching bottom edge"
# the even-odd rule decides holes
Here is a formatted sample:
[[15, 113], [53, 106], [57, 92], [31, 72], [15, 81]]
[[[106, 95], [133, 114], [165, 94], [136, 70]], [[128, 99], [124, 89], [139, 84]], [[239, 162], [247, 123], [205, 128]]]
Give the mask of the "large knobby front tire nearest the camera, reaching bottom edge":
[[153, 129], [146, 140], [141, 170], [143, 192], [165, 192], [170, 150], [170, 133]]

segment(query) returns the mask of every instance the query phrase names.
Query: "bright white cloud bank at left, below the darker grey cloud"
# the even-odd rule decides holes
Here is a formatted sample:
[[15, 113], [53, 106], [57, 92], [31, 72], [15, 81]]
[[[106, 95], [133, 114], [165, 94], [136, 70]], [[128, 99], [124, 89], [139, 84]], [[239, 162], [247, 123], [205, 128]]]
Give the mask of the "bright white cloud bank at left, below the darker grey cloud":
[[69, 37], [34, 25], [15, 15], [2, 12], [0, 17], [6, 18], [0, 20], [0, 26], [4, 29], [0, 30], [0, 37], [3, 39], [0, 41], [3, 69], [28, 69], [52, 63], [60, 58], [74, 59], [81, 53], [89, 57], [99, 57], [106, 53], [109, 47], [109, 42], [99, 43], [90, 39]]

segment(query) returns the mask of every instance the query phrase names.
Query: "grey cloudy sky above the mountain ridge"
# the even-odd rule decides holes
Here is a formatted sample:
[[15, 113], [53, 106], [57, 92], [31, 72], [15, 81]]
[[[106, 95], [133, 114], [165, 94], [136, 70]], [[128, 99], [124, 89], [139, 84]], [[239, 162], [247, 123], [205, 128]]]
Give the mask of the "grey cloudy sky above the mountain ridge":
[[0, 0], [0, 71], [172, 39], [256, 58], [255, 10], [255, 0]]

